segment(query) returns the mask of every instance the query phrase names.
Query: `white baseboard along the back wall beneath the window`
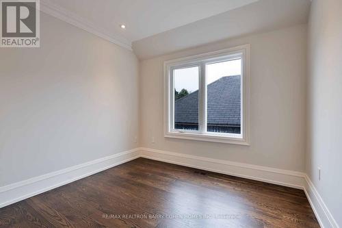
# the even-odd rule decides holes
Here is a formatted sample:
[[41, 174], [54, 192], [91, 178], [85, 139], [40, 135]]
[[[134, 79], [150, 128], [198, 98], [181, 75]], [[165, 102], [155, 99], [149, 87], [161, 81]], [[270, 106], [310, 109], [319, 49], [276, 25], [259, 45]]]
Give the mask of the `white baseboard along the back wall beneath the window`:
[[291, 188], [303, 189], [305, 181], [305, 173], [291, 170], [282, 170], [239, 162], [229, 162], [209, 157], [186, 155], [183, 153], [174, 153], [148, 148], [140, 148], [140, 154], [142, 157], [152, 160], [159, 160], [161, 162], [179, 164], [182, 166], [189, 166], [192, 168], [199, 168], [215, 173], [244, 177], [267, 183], [274, 183]]

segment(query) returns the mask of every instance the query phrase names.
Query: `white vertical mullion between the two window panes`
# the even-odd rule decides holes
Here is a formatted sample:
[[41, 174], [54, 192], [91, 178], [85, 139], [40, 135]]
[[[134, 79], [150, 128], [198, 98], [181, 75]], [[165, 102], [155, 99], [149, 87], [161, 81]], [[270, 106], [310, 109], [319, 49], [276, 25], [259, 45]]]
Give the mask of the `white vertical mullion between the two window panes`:
[[202, 134], [207, 132], [207, 79], [206, 79], [206, 69], [205, 62], [200, 63], [200, 97], [199, 97], [199, 110], [198, 110], [198, 121], [200, 124], [199, 131]]

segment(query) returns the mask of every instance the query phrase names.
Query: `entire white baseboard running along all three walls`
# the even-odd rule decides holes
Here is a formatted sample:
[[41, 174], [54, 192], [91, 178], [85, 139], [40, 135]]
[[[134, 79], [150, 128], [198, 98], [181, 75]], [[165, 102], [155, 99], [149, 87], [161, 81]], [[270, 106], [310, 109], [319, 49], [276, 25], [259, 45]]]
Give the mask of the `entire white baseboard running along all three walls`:
[[0, 187], [0, 208], [138, 157], [303, 189], [319, 225], [322, 228], [339, 228], [311, 179], [305, 173], [142, 147]]

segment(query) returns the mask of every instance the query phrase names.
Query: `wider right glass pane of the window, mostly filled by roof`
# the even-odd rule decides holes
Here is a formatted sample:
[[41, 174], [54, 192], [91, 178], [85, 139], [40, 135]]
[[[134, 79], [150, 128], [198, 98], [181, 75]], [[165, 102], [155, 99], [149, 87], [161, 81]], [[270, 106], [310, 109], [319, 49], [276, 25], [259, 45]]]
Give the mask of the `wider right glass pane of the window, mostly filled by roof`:
[[207, 131], [241, 134], [241, 59], [207, 64]]

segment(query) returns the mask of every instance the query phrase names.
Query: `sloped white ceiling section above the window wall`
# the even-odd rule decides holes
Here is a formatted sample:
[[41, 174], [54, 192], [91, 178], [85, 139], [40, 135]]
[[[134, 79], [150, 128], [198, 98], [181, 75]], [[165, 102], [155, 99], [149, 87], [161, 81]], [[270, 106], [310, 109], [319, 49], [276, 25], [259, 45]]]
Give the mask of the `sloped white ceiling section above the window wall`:
[[241, 8], [133, 42], [140, 59], [282, 27], [307, 23], [310, 0], [259, 0]]

